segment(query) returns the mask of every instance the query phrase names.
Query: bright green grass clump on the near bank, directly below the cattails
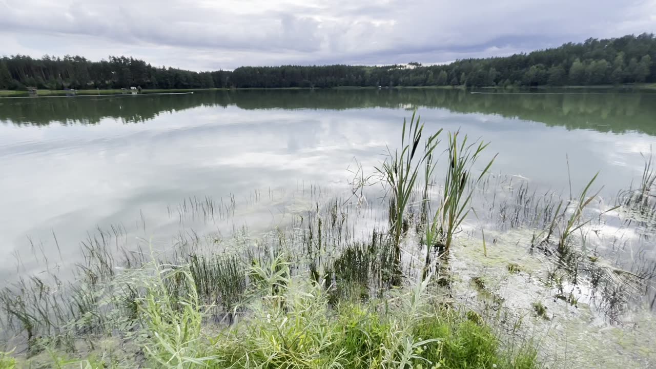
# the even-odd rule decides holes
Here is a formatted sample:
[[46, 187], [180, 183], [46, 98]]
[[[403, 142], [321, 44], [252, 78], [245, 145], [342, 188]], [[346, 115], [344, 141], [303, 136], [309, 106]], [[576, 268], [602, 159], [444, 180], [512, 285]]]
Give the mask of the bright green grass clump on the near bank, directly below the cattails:
[[434, 307], [428, 279], [390, 293], [385, 309], [382, 301], [331, 309], [321, 284], [290, 278], [282, 295], [261, 295], [253, 314], [213, 339], [213, 355], [226, 368], [537, 367], [532, 354], [502, 351], [475, 313]]

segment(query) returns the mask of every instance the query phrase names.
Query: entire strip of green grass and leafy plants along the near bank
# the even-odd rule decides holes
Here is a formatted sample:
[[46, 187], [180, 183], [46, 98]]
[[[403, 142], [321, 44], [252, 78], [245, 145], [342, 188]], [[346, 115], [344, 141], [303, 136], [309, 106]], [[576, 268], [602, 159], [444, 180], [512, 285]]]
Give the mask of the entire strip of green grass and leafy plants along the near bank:
[[[273, 252], [273, 251], [271, 251]], [[144, 291], [140, 325], [125, 345], [133, 351], [77, 355], [49, 347], [34, 358], [0, 355], [2, 369], [30, 368], [537, 368], [535, 350], [502, 348], [480, 316], [440, 307], [430, 278], [380, 299], [330, 303], [329, 288], [306, 275], [290, 276], [283, 254], [253, 265], [236, 323], [207, 322], [189, 266], [153, 261], [133, 271]], [[186, 293], [172, 293], [171, 285]], [[212, 329], [207, 329], [213, 327]], [[16, 364], [17, 362], [17, 364]]]

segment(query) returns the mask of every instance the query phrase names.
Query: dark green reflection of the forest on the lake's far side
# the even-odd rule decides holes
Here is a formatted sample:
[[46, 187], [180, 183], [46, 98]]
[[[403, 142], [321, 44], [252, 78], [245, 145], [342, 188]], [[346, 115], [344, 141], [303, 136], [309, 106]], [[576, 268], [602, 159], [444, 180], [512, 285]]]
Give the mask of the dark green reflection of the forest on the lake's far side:
[[470, 94], [432, 89], [216, 91], [193, 95], [138, 97], [75, 97], [7, 99], [0, 101], [0, 119], [43, 125], [52, 122], [98, 123], [102, 118], [136, 123], [161, 112], [196, 106], [242, 109], [447, 108], [453, 112], [497, 114], [538, 121], [567, 129], [594, 129], [621, 133], [639, 131], [656, 135], [656, 94], [534, 93]]

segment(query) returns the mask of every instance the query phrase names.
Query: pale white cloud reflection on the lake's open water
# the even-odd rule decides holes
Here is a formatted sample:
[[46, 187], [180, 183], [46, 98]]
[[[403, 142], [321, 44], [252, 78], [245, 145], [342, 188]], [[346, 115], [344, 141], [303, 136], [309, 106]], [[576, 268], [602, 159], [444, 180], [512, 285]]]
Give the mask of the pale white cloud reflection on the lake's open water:
[[[2, 125], [0, 133], [9, 135], [0, 135], [0, 173], [9, 181], [0, 190], [12, 196], [0, 199], [0, 208], [11, 209], [0, 221], [0, 255], [23, 248], [28, 235], [47, 238], [52, 230], [68, 250], [77, 250], [87, 229], [134, 222], [140, 209], [152, 229], [165, 227], [169, 221], [158, 211], [188, 196], [239, 196], [297, 181], [348, 186], [353, 158], [365, 174], [373, 172], [386, 145], [394, 150], [400, 143], [403, 118], [411, 114], [198, 106], [138, 124], [106, 118], [98, 125]], [[499, 152], [495, 173], [521, 174], [531, 186], [556, 190], [567, 186], [567, 153], [573, 186], [601, 169], [599, 183], [616, 193], [642, 165], [636, 157], [649, 143], [634, 133], [567, 131], [442, 108], [422, 108], [420, 115], [427, 131], [461, 129], [491, 141], [486, 154]]]

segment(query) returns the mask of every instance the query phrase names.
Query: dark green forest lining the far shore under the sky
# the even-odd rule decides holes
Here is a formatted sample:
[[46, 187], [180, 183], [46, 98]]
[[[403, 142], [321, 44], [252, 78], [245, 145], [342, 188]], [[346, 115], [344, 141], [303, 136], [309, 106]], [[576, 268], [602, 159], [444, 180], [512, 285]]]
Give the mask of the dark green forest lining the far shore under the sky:
[[277, 87], [420, 87], [466, 85], [564, 86], [656, 82], [653, 33], [587, 39], [553, 49], [506, 57], [470, 58], [450, 64], [390, 66], [245, 66], [233, 71], [191, 72], [144, 60], [110, 56], [12, 55], [0, 58], [0, 89], [206, 89]]

